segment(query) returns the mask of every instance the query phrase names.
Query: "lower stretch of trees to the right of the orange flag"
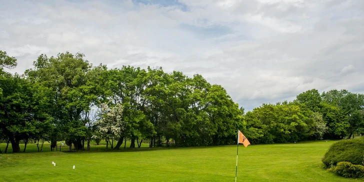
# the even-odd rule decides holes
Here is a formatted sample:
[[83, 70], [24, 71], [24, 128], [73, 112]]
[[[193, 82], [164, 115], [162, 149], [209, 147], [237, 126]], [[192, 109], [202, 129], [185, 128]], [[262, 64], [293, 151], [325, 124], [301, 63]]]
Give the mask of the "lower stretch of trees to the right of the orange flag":
[[290, 102], [262, 104], [243, 120], [251, 143], [351, 138], [364, 135], [364, 95], [310, 89]]

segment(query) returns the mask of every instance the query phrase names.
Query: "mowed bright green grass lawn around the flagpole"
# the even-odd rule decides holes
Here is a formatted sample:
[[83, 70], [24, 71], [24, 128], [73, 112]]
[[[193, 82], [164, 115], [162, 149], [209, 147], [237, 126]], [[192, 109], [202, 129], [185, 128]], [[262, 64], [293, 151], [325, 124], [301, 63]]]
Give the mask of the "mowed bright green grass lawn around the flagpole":
[[[237, 181], [354, 181], [322, 168], [321, 157], [333, 142], [258, 144], [247, 148], [239, 145]], [[0, 144], [2, 150], [4, 145]], [[235, 180], [236, 145], [184, 148], [146, 145], [106, 152], [2, 153], [0, 181]], [[34, 150], [35, 145], [27, 147]]]

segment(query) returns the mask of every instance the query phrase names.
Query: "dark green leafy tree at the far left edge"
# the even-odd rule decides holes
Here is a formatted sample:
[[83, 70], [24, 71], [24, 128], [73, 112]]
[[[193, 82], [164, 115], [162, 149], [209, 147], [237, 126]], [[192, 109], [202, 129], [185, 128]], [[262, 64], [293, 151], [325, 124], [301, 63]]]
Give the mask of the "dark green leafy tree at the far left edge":
[[13, 152], [20, 151], [20, 140], [25, 140], [25, 151], [29, 138], [37, 138], [50, 128], [48, 100], [44, 96], [47, 89], [9, 73], [0, 75], [0, 87], [0, 128], [9, 138]]

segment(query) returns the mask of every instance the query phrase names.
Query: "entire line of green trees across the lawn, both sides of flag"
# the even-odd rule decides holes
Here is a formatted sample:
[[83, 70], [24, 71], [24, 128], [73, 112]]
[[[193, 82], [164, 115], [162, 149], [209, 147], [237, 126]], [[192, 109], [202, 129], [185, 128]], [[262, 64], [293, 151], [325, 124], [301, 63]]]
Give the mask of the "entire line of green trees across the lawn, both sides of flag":
[[[226, 90], [202, 75], [133, 66], [108, 69], [84, 54], [41, 54], [22, 74], [4, 70], [16, 58], [0, 50], [0, 139], [19, 152], [19, 143], [65, 141], [77, 150], [106, 141], [119, 149], [148, 141], [155, 146], [236, 143], [237, 129], [251, 143], [343, 138], [363, 133], [363, 95], [346, 90], [262, 104], [244, 113]], [[115, 144], [114, 144], [115, 143]]]

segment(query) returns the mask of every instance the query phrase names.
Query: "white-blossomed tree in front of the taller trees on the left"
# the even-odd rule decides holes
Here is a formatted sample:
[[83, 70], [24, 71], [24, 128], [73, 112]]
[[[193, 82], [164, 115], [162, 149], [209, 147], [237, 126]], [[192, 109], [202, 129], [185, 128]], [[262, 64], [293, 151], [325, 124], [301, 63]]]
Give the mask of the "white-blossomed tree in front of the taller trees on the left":
[[99, 116], [100, 118], [95, 122], [98, 126], [98, 136], [95, 135], [94, 137], [104, 138], [106, 142], [117, 140], [117, 144], [113, 149], [119, 149], [123, 142], [127, 124], [123, 119], [123, 106], [116, 104], [109, 107], [107, 103], [102, 103]]

